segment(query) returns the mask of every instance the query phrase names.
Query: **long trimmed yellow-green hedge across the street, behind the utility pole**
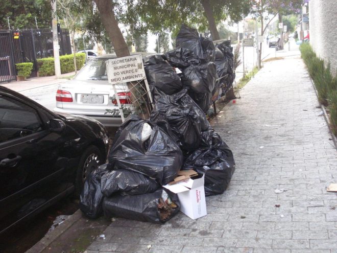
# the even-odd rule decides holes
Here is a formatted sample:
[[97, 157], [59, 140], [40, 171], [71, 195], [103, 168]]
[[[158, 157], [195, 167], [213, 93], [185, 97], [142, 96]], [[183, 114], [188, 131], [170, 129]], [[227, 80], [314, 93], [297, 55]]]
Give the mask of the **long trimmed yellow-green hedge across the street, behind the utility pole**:
[[[76, 54], [76, 66], [77, 70], [80, 70], [85, 62], [85, 54]], [[37, 60], [39, 66], [40, 76], [53, 76], [55, 75], [54, 58], [42, 58]], [[60, 56], [61, 74], [75, 71], [74, 67], [74, 54]]]

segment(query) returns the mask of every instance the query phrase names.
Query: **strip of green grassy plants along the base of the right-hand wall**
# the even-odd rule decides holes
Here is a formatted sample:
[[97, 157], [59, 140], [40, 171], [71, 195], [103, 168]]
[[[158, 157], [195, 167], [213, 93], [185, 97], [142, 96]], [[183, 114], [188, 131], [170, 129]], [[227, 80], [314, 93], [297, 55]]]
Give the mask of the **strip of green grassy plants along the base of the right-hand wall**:
[[317, 89], [321, 104], [328, 107], [333, 133], [337, 135], [337, 75], [332, 76], [330, 64], [317, 57], [309, 43], [300, 45], [301, 57]]

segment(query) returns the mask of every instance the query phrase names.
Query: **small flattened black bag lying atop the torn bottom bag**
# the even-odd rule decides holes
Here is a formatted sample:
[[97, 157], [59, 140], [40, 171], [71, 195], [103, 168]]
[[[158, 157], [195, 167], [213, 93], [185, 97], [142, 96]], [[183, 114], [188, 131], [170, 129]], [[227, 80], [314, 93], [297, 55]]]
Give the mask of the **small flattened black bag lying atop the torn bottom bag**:
[[152, 193], [160, 187], [155, 179], [130, 170], [112, 170], [101, 179], [101, 191], [110, 197], [118, 192], [120, 195], [137, 195]]

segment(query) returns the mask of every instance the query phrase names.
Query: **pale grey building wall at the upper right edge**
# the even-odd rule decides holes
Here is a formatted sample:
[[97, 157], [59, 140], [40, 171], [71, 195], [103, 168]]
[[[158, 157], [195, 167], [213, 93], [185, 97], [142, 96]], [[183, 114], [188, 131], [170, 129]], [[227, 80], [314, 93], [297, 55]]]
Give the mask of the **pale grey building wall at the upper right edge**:
[[337, 0], [309, 1], [310, 44], [337, 74]]

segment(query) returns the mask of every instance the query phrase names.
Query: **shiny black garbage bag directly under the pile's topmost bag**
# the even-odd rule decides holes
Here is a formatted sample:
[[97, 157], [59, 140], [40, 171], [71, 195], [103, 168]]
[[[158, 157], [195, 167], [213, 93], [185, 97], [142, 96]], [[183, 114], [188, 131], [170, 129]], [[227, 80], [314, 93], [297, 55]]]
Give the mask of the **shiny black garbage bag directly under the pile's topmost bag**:
[[190, 65], [182, 70], [182, 83], [195, 93], [211, 93], [217, 78], [213, 62]]

